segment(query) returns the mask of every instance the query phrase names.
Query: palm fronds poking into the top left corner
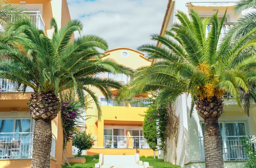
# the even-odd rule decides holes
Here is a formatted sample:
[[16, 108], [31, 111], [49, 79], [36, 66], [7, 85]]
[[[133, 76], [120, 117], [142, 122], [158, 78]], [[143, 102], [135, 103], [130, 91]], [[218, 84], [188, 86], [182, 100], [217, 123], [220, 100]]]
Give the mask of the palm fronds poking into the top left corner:
[[2, 28], [11, 20], [17, 20], [25, 16], [26, 9], [20, 4], [9, 3], [9, 0], [0, 0], [0, 25]]

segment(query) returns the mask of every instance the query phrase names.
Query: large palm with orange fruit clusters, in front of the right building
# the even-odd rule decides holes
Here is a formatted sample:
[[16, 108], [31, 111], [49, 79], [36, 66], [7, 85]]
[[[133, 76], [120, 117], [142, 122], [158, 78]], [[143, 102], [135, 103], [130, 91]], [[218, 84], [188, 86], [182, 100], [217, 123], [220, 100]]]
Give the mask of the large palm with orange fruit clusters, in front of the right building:
[[[256, 55], [246, 49], [254, 45], [255, 40], [247, 39], [256, 29], [236, 41], [230, 38], [221, 40], [225, 16], [219, 22], [218, 12], [210, 18], [201, 19], [193, 10], [190, 10], [189, 16], [177, 11], [180, 24], [172, 25], [165, 37], [158, 34], [151, 36], [163, 48], [155, 45], [141, 45], [138, 48], [148, 53], [150, 59], [158, 61], [151, 66], [138, 68], [134, 80], [122, 87], [116, 98], [119, 102], [143, 92], [158, 91], [155, 101], [160, 105], [167, 98], [175, 101], [184, 93], [191, 95], [191, 111], [195, 105], [205, 123], [206, 168], [224, 167], [218, 126], [218, 118], [224, 107], [224, 92], [233, 95], [239, 108], [242, 108], [242, 93], [255, 94], [250, 83], [256, 81]], [[207, 34], [209, 23], [211, 28]]]

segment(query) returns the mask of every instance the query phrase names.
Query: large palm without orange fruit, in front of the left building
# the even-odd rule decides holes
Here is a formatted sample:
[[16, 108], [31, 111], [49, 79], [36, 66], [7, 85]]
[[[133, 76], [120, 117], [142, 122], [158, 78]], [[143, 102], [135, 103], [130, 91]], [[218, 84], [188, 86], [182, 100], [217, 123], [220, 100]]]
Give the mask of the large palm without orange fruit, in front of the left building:
[[111, 99], [111, 89], [122, 85], [112, 79], [97, 77], [100, 73], [131, 74], [131, 69], [112, 59], [101, 59], [107, 42], [96, 35], [85, 35], [72, 40], [74, 31], [82, 31], [79, 20], [71, 20], [58, 30], [55, 19], [52, 39], [38, 30], [29, 20], [17, 20], [6, 27], [5, 39], [0, 42], [0, 78], [16, 81], [23, 92], [31, 87], [34, 92], [28, 103], [31, 117], [35, 119], [33, 158], [31, 168], [49, 168], [53, 120], [60, 109], [59, 93], [73, 89], [84, 104], [85, 92], [98, 109], [98, 98], [89, 86], [98, 88], [106, 99]]

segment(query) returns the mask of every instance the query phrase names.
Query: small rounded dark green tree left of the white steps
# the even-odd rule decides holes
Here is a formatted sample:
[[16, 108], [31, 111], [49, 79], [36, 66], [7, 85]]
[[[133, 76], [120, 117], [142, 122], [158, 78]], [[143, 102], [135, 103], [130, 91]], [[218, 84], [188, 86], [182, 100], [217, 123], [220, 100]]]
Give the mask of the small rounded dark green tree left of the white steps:
[[94, 139], [91, 135], [87, 135], [84, 132], [77, 132], [75, 137], [73, 138], [73, 146], [78, 148], [77, 156], [80, 157], [83, 150], [88, 150], [93, 147]]

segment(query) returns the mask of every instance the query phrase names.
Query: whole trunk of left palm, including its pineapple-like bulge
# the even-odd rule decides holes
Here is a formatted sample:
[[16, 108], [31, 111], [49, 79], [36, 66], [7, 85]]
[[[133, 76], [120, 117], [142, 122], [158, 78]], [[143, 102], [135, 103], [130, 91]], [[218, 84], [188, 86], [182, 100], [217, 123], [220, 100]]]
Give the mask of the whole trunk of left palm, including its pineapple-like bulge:
[[53, 92], [33, 92], [29, 112], [35, 119], [31, 168], [50, 168], [52, 122], [58, 115], [60, 101]]

